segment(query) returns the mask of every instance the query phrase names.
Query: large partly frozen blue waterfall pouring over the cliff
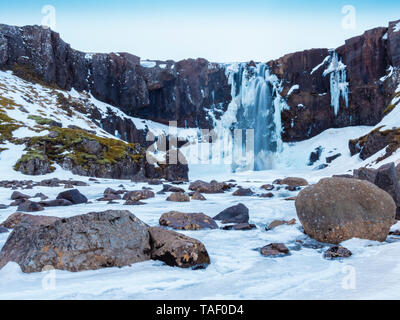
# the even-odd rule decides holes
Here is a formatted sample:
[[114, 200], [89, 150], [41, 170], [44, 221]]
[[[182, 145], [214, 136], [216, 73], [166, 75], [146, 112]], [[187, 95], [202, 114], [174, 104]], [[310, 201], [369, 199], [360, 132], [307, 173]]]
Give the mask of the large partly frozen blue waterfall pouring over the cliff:
[[[227, 67], [232, 101], [221, 119], [215, 121], [219, 139], [231, 148], [232, 171], [267, 170], [282, 150], [281, 111], [287, 108], [280, 96], [278, 78], [266, 64], [238, 63]], [[226, 148], [225, 148], [226, 151]], [[229, 153], [229, 152], [228, 152]]]

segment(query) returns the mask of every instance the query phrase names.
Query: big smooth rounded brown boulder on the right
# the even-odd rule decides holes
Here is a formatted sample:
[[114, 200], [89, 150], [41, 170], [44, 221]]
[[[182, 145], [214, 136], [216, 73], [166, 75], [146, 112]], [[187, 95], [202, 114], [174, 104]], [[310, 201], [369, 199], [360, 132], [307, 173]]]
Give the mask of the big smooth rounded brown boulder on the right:
[[307, 235], [338, 244], [354, 237], [385, 241], [396, 205], [368, 181], [325, 178], [300, 191], [296, 210]]

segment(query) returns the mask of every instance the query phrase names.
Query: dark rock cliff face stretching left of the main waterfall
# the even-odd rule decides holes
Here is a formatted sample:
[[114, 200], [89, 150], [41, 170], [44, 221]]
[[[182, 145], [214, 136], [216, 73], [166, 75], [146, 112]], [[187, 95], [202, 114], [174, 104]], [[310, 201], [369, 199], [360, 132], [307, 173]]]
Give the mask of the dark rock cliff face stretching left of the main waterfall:
[[[210, 127], [204, 108], [221, 104], [226, 109], [231, 99], [225, 70], [218, 64], [187, 59], [157, 62], [155, 67], [146, 68], [140, 65], [139, 57], [128, 53], [73, 50], [58, 33], [39, 26], [0, 25], [0, 67], [23, 73], [28, 69], [61, 89], [90, 91], [130, 116], [162, 123], [178, 120], [179, 126]], [[121, 131], [126, 125], [106, 124], [110, 130]], [[123, 133], [136, 134], [134, 130]]]

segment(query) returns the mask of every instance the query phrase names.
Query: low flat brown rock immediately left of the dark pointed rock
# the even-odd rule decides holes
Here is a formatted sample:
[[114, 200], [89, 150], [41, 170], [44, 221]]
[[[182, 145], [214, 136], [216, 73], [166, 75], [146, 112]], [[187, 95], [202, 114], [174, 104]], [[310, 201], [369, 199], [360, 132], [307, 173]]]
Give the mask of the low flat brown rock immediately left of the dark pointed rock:
[[204, 213], [170, 211], [160, 217], [160, 225], [177, 230], [217, 229], [217, 223]]

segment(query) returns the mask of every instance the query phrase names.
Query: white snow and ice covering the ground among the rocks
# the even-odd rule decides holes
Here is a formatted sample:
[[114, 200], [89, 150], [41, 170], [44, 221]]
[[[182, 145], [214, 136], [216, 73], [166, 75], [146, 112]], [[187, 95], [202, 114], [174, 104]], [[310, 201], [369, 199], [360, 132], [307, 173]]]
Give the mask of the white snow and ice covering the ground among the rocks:
[[[0, 72], [0, 83], [6, 84], [5, 90], [0, 87], [0, 94], [21, 103], [29, 113], [16, 108], [7, 110], [10, 116], [21, 121], [24, 127], [14, 132], [15, 135], [31, 136], [45, 134], [31, 130], [35, 122], [28, 119], [30, 114], [40, 115], [45, 112], [47, 117], [67, 124], [82, 125], [84, 128], [97, 130], [98, 134], [112, 136], [101, 128], [93, 129], [85, 121], [84, 115], [76, 114], [71, 119], [57, 110], [49, 90], [40, 86], [30, 85], [13, 77], [10, 73]], [[279, 82], [273, 82], [276, 88]], [[38, 95], [42, 104], [33, 100], [28, 103], [21, 97]], [[278, 90], [278, 89], [277, 89]], [[400, 86], [397, 89], [400, 92]], [[74, 99], [82, 97], [74, 90], [63, 93]], [[130, 118], [110, 105], [97, 101], [88, 95], [100, 112], [105, 115], [108, 110], [134, 121], [140, 128], [148, 127], [157, 134], [168, 132], [168, 127], [151, 121]], [[35, 102], [36, 101], [36, 102]], [[277, 104], [282, 103], [277, 99]], [[279, 107], [282, 107], [280, 105]], [[231, 105], [221, 121], [229, 123], [235, 120], [235, 105]], [[79, 117], [81, 118], [79, 118]], [[341, 129], [328, 129], [321, 134], [302, 142], [282, 143], [282, 151], [276, 155], [273, 169], [266, 171], [230, 172], [230, 165], [221, 163], [190, 163], [191, 180], [216, 179], [226, 181], [235, 179], [244, 188], [251, 188], [261, 193], [260, 186], [272, 183], [277, 178], [299, 176], [310, 183], [316, 183], [323, 177], [333, 174], [348, 173], [361, 166], [378, 167], [383, 163], [394, 161], [399, 163], [400, 151], [388, 159], [376, 164], [374, 160], [380, 153], [362, 161], [358, 155], [351, 156], [348, 140], [360, 137], [374, 128], [400, 127], [400, 108], [396, 107], [375, 127], [358, 126]], [[201, 144], [198, 142], [198, 129], [178, 129], [178, 137], [188, 137], [189, 145], [185, 148], [190, 154]], [[315, 148], [322, 147], [321, 160], [313, 166], [307, 166], [309, 155]], [[323, 258], [323, 252], [329, 245], [318, 247], [318, 243], [308, 238], [302, 231], [297, 219], [293, 201], [284, 198], [296, 195], [285, 189], [273, 191], [275, 197], [234, 197], [231, 192], [223, 194], [207, 194], [207, 201], [191, 201], [188, 203], [173, 203], [165, 201], [167, 195], [156, 194], [155, 198], [145, 200], [143, 206], [128, 207], [123, 201], [117, 204], [105, 204], [96, 201], [107, 187], [119, 189], [123, 184], [128, 190], [141, 189], [148, 186], [143, 183], [133, 183], [127, 180], [98, 179], [100, 183], [90, 182], [88, 177], [73, 175], [55, 166], [55, 172], [45, 176], [26, 176], [12, 169], [12, 166], [23, 153], [24, 145], [6, 143], [0, 148], [7, 150], [0, 153], [0, 172], [2, 180], [34, 180], [57, 177], [60, 179], [76, 179], [86, 181], [88, 187], [78, 187], [90, 203], [71, 207], [46, 208], [41, 215], [69, 217], [93, 211], [106, 209], [131, 210], [138, 218], [157, 226], [161, 214], [170, 210], [183, 212], [204, 212], [213, 217], [221, 210], [242, 202], [250, 210], [250, 223], [257, 229], [250, 231], [200, 230], [180, 231], [190, 237], [202, 241], [211, 257], [211, 264], [205, 270], [179, 269], [164, 265], [160, 261], [136, 263], [122, 268], [106, 268], [84, 272], [54, 271], [55, 286], [46, 287], [43, 284], [51, 276], [49, 272], [25, 274], [16, 263], [8, 263], [0, 270], [0, 299], [399, 299], [400, 298], [400, 238], [389, 236], [385, 242], [374, 242], [361, 239], [351, 239], [342, 243], [353, 252], [350, 258], [328, 261]], [[383, 152], [383, 151], [382, 151]], [[342, 156], [333, 161], [323, 170], [313, 170], [325, 162], [327, 156], [341, 153]], [[162, 152], [154, 156], [161, 157]], [[198, 155], [197, 155], [198, 156]], [[197, 156], [194, 156], [196, 158]], [[198, 159], [198, 157], [197, 157]], [[154, 192], [162, 186], [151, 186]], [[183, 185], [188, 190], [188, 184]], [[0, 203], [9, 204], [12, 190], [0, 188]], [[35, 187], [22, 192], [34, 195], [43, 192], [54, 199], [63, 187]], [[0, 210], [0, 222], [15, 212], [15, 207]], [[280, 226], [271, 231], [265, 231], [265, 226], [275, 219], [297, 219], [294, 225]], [[400, 223], [392, 230], [400, 228]], [[4, 245], [10, 233], [0, 234], [0, 248]], [[306, 246], [301, 246], [303, 241]], [[290, 249], [290, 255], [279, 258], [267, 258], [255, 250], [271, 242], [283, 242]], [[347, 280], [354, 280], [348, 282]], [[350, 283], [350, 285], [349, 285]]]

